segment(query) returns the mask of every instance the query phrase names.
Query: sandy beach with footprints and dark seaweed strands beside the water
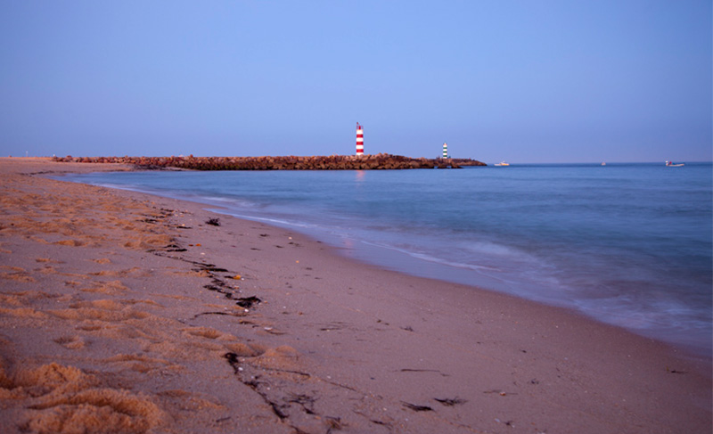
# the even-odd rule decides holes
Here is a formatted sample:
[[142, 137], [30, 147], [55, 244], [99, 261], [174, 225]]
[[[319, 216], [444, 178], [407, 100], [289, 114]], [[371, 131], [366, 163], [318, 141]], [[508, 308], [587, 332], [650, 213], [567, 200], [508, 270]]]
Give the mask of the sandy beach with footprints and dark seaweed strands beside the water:
[[711, 430], [709, 359], [38, 176], [120, 168], [0, 159], [0, 432]]

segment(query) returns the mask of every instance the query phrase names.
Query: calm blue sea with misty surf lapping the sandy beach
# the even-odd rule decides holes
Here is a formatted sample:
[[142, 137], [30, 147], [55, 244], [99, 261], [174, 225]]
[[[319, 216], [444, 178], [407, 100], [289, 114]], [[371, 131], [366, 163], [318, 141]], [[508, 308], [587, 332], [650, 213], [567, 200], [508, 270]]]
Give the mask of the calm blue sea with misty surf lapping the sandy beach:
[[202, 202], [307, 233], [351, 258], [570, 307], [711, 352], [709, 163], [69, 178]]

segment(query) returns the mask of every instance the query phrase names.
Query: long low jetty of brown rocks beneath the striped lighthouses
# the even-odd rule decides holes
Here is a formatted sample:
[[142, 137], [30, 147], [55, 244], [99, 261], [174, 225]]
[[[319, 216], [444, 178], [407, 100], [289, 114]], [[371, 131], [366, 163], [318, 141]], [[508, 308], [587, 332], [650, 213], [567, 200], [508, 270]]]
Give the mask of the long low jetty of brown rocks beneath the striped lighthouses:
[[461, 168], [486, 166], [470, 159], [412, 159], [400, 155], [330, 155], [328, 157], [54, 157], [60, 162], [120, 163], [138, 168], [190, 170], [372, 170], [406, 168]]

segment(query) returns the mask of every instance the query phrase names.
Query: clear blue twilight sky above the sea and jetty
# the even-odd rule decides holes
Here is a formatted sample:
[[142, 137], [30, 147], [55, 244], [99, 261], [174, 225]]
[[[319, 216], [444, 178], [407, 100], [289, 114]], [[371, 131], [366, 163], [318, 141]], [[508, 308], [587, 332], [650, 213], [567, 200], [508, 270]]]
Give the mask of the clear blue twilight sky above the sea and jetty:
[[709, 0], [0, 0], [0, 155], [713, 160]]

